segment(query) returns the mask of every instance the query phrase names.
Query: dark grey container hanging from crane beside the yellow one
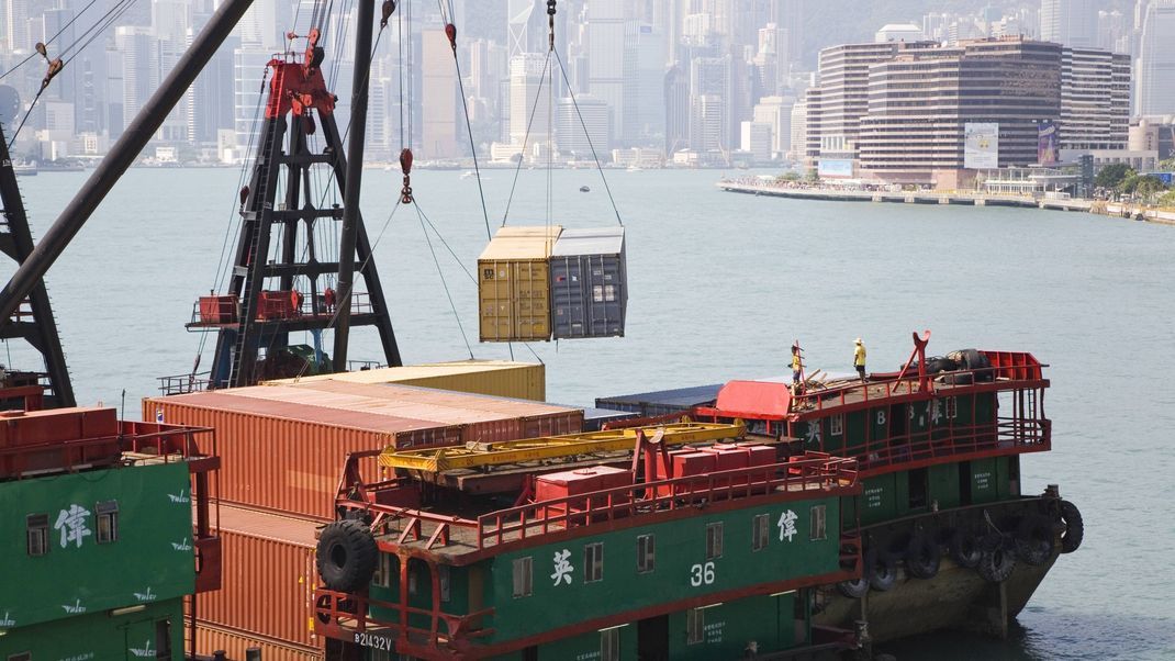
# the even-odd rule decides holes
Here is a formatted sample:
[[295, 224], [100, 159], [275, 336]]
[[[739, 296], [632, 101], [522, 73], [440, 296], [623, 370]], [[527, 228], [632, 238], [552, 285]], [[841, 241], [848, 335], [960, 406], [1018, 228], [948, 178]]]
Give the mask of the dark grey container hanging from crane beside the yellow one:
[[624, 228], [563, 230], [551, 251], [553, 337], [624, 337], [627, 303]]

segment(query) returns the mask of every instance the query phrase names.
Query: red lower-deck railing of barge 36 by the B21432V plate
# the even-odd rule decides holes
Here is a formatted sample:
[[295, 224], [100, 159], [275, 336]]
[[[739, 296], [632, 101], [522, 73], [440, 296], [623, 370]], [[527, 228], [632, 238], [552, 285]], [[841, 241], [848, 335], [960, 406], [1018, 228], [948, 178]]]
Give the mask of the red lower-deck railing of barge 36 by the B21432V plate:
[[[438, 580], [436, 567], [430, 567], [434, 584]], [[405, 586], [407, 586], [407, 578]], [[343, 593], [327, 588], [315, 591], [316, 629], [330, 638], [354, 640], [354, 633], [369, 630], [387, 632], [397, 642], [396, 652], [452, 652], [466, 647], [470, 641], [494, 635], [495, 629], [483, 625], [492, 618], [494, 608], [483, 608], [466, 614], [445, 613], [439, 605], [439, 586], [432, 586], [432, 608], [409, 606], [405, 602], [372, 599], [364, 593]], [[407, 588], [405, 588], [407, 589]], [[407, 596], [407, 595], [405, 595]], [[374, 616], [372, 612], [385, 611], [395, 619]], [[414, 625], [428, 621], [428, 626]]]

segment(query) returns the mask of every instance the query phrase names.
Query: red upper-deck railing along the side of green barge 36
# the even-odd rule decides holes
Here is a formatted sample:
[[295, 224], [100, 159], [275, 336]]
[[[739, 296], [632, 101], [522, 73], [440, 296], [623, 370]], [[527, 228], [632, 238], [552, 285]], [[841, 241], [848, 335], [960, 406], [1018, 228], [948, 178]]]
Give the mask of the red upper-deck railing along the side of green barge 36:
[[690, 508], [699, 503], [791, 492], [827, 493], [859, 488], [857, 461], [824, 453], [792, 461], [684, 475], [585, 494], [542, 500], [483, 514], [477, 519], [477, 547], [540, 537], [576, 526]]

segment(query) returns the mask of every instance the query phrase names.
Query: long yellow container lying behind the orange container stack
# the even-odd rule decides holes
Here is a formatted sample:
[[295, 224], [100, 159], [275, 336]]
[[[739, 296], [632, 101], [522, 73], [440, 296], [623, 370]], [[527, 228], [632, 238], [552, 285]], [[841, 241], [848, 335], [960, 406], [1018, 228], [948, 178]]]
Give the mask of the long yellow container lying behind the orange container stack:
[[515, 397], [543, 402], [546, 399], [546, 369], [543, 364], [511, 360], [454, 360], [404, 367], [382, 367], [337, 375], [318, 375], [300, 379], [266, 382], [266, 385], [341, 380], [348, 383], [398, 383], [436, 387], [455, 392]]

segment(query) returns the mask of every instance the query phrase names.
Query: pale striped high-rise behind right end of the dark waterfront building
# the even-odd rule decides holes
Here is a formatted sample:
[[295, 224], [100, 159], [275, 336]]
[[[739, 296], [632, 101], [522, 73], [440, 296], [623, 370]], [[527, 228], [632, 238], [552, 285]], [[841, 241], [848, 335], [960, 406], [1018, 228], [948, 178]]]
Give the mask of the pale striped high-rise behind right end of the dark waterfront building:
[[1061, 54], [1061, 149], [1126, 149], [1130, 56], [1093, 48]]

